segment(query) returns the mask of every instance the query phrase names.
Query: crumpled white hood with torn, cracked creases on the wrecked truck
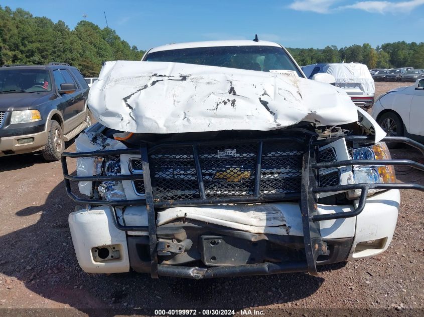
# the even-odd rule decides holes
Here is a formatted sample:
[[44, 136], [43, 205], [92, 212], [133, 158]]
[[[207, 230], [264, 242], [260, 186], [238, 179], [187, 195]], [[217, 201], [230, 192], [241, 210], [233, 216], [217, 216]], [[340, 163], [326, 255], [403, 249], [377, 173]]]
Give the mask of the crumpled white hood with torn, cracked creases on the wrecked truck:
[[165, 62], [107, 62], [88, 106], [106, 127], [134, 133], [273, 130], [358, 120], [342, 89], [278, 73]]

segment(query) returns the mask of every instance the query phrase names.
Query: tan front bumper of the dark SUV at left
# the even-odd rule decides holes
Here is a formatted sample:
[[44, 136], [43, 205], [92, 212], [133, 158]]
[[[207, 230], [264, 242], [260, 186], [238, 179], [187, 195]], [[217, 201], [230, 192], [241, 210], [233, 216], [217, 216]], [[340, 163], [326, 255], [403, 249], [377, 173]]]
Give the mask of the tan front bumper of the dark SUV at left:
[[[21, 142], [25, 143], [21, 143]], [[43, 150], [47, 143], [46, 131], [0, 138], [0, 156]]]

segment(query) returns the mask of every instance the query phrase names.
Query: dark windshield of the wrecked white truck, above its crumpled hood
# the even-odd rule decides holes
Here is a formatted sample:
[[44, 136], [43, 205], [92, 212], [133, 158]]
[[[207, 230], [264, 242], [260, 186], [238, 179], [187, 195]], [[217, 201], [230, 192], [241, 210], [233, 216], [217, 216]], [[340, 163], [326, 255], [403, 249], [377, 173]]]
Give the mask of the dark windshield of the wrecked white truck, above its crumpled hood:
[[269, 72], [272, 70], [300, 71], [288, 54], [273, 46], [219, 46], [189, 48], [149, 53], [148, 62], [175, 62]]

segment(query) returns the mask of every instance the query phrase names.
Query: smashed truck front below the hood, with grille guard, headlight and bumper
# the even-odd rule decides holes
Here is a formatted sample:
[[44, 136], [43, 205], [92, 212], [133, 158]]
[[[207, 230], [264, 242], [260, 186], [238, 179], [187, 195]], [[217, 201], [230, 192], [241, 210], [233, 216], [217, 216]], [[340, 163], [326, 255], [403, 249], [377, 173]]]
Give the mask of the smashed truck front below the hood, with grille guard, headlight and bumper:
[[[424, 189], [398, 184], [391, 174], [394, 165], [424, 170], [422, 164], [384, 156], [383, 142], [407, 143], [424, 152], [424, 146], [406, 138], [375, 144], [374, 136], [321, 138], [297, 128], [244, 140], [127, 143], [127, 148], [107, 150], [99, 148], [99, 139], [107, 146], [123, 143], [98, 132], [80, 138], [77, 146], [85, 139], [93, 151], [64, 153], [62, 166], [68, 194], [87, 205], [70, 215], [73, 239], [87, 235], [82, 222], [98, 228], [91, 245], [84, 241], [81, 247], [91, 249], [88, 263], [74, 239], [80, 265], [89, 272], [132, 267], [153, 277], [316, 275], [317, 264], [387, 248], [394, 228], [372, 228], [377, 224], [368, 222], [372, 229], [358, 233], [355, 220], [363, 221], [365, 210], [365, 219], [373, 213], [374, 218], [394, 217], [395, 224], [395, 189]], [[66, 158], [78, 158], [78, 176], [68, 174]], [[90, 176], [81, 176], [84, 160], [93, 162]], [[77, 197], [71, 181], [89, 182], [89, 198]]]

